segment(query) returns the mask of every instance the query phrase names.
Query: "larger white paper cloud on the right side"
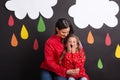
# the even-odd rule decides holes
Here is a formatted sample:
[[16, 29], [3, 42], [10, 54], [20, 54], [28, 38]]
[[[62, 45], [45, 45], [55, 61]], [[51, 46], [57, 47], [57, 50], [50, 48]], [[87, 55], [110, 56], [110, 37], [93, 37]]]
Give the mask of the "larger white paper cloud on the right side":
[[76, 26], [81, 29], [88, 25], [100, 29], [103, 24], [115, 27], [118, 24], [118, 12], [118, 4], [109, 0], [76, 0], [76, 4], [68, 11]]

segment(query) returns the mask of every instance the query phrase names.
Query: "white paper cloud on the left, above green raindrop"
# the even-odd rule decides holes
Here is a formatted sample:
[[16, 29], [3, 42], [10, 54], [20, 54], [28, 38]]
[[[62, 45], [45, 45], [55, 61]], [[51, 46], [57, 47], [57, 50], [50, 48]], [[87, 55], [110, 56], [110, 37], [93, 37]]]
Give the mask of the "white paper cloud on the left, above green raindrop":
[[28, 14], [31, 19], [36, 19], [41, 14], [45, 18], [53, 16], [52, 7], [57, 0], [9, 0], [5, 3], [8, 10], [14, 11], [18, 19], [23, 19]]

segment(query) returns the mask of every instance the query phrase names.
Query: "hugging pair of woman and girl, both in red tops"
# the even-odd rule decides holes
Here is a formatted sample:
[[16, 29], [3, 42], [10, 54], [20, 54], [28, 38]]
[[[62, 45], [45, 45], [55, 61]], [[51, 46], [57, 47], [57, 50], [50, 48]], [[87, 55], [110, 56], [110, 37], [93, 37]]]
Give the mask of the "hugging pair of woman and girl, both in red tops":
[[86, 56], [69, 20], [60, 18], [55, 34], [45, 43], [40, 80], [89, 80], [84, 63]]

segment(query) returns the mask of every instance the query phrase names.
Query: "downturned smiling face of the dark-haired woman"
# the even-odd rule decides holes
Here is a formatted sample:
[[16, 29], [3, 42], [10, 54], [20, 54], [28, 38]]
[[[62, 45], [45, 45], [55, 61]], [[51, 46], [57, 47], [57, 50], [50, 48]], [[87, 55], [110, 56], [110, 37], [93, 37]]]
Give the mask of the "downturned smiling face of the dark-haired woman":
[[70, 32], [70, 28], [69, 27], [65, 28], [65, 29], [60, 29], [60, 30], [58, 28], [56, 28], [56, 30], [57, 30], [57, 35], [60, 36], [61, 38], [66, 38], [67, 35]]

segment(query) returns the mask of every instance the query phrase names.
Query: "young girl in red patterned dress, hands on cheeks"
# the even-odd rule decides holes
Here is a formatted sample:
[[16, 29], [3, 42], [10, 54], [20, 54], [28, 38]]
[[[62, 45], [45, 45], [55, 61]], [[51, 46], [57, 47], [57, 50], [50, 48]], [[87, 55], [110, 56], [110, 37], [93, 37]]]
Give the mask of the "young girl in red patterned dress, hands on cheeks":
[[79, 38], [71, 34], [66, 38], [65, 50], [60, 57], [60, 64], [67, 69], [77, 68], [79, 73], [77, 75], [68, 75], [68, 80], [89, 80], [85, 72], [84, 63], [86, 57], [83, 47], [80, 46]]

